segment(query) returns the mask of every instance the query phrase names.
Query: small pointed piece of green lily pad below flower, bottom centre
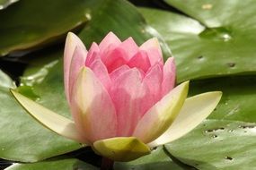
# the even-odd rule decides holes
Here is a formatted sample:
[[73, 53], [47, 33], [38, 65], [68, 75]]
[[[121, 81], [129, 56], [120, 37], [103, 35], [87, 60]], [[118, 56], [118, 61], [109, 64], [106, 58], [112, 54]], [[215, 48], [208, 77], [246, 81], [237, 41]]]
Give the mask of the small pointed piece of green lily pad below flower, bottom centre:
[[154, 169], [175, 169], [175, 170], [191, 170], [190, 166], [184, 165], [181, 162], [177, 163], [169, 157], [168, 152], [163, 150], [163, 147], [153, 149], [149, 155], [137, 158], [130, 162], [115, 162], [115, 170], [154, 170]]

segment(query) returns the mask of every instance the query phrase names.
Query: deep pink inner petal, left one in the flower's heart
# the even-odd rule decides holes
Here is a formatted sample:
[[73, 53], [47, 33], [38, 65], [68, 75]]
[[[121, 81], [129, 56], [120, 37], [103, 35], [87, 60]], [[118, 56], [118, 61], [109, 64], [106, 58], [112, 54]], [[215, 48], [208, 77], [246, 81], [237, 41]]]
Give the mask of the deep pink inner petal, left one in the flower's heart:
[[102, 55], [102, 62], [106, 65], [108, 72], [113, 72], [121, 65], [127, 64], [125, 51], [117, 47]]

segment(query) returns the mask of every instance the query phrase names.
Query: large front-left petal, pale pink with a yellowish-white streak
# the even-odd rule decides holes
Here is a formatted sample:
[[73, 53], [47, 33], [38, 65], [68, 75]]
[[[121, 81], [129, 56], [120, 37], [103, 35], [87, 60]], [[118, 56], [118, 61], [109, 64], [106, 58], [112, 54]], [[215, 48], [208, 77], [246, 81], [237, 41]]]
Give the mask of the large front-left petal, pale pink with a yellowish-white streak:
[[116, 136], [117, 116], [110, 95], [87, 67], [75, 81], [71, 109], [78, 131], [91, 144]]

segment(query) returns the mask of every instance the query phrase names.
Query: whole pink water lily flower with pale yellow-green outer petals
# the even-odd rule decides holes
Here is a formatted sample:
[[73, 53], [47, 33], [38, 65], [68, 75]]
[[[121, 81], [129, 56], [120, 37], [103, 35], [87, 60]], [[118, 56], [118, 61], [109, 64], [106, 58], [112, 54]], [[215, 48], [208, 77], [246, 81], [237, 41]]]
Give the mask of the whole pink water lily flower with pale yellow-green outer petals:
[[64, 81], [73, 120], [12, 93], [50, 130], [103, 157], [129, 161], [190, 132], [219, 102], [219, 91], [187, 98], [189, 81], [174, 87], [175, 76], [174, 59], [163, 64], [157, 38], [138, 47], [133, 38], [122, 42], [110, 32], [87, 51], [68, 33]]

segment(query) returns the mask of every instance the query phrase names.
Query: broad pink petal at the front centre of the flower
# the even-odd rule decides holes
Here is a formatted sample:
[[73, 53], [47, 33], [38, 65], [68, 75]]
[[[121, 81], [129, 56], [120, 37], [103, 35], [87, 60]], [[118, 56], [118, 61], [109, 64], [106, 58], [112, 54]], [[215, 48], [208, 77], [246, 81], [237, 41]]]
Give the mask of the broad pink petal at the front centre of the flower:
[[146, 102], [148, 89], [141, 82], [137, 69], [123, 72], [112, 82], [110, 97], [116, 107], [118, 116], [118, 136], [130, 136], [138, 120], [146, 112], [143, 102]]

